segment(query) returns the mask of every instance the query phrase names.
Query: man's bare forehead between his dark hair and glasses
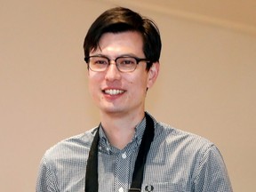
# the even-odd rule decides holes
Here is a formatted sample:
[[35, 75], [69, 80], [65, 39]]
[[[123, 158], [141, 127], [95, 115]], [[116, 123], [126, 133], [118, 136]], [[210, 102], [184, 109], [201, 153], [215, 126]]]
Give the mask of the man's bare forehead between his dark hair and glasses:
[[102, 54], [131, 53], [140, 54], [140, 56], [143, 56], [143, 38], [141, 34], [136, 31], [105, 33], [100, 37], [100, 42], [97, 49], [92, 52]]

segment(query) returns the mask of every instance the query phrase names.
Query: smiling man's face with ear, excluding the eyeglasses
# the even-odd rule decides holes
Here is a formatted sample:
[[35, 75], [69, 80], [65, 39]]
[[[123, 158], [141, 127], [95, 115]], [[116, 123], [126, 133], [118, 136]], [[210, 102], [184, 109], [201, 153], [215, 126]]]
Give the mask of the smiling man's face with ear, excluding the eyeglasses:
[[100, 48], [90, 52], [92, 55], [104, 55], [111, 61], [106, 71], [94, 72], [89, 69], [89, 89], [92, 99], [101, 113], [125, 114], [144, 113], [147, 87], [150, 88], [158, 73], [158, 63], [149, 71], [146, 62], [140, 61], [132, 72], [120, 72], [115, 60], [119, 56], [145, 58], [142, 36], [138, 32], [106, 33], [100, 38]]

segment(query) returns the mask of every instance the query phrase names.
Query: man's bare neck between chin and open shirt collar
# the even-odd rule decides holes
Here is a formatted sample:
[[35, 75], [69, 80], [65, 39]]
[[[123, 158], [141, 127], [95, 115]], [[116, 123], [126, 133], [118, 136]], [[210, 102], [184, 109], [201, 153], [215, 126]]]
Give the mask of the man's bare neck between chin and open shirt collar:
[[144, 116], [144, 111], [126, 116], [101, 114], [101, 124], [110, 144], [115, 148], [124, 148], [132, 140], [135, 127]]

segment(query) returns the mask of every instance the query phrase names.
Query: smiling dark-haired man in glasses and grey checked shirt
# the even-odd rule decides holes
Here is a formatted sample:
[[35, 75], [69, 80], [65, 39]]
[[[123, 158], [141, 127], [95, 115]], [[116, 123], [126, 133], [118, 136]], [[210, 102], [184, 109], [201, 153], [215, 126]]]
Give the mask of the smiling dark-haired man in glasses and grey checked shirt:
[[84, 60], [100, 125], [46, 151], [37, 192], [232, 191], [212, 142], [145, 112], [160, 52], [156, 24], [137, 12], [116, 7], [92, 23]]

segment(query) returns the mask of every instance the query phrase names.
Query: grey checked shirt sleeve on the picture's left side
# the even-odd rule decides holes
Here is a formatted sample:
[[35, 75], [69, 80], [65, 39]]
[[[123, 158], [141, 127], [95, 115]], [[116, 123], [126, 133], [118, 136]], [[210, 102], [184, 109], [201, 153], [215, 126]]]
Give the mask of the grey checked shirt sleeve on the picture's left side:
[[36, 192], [57, 192], [56, 178], [51, 167], [47, 164], [45, 155], [41, 160], [36, 180]]

